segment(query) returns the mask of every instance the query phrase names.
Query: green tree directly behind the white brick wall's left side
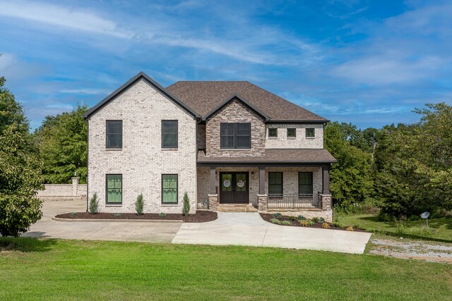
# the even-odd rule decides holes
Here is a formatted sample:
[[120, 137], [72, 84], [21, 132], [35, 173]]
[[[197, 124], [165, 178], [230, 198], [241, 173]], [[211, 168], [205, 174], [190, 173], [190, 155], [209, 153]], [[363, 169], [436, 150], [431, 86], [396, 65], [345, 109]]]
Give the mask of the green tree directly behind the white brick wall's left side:
[[44, 161], [46, 183], [70, 183], [74, 173], [85, 182], [88, 175], [88, 124], [83, 114], [88, 106], [77, 104], [68, 112], [46, 116], [35, 139]]

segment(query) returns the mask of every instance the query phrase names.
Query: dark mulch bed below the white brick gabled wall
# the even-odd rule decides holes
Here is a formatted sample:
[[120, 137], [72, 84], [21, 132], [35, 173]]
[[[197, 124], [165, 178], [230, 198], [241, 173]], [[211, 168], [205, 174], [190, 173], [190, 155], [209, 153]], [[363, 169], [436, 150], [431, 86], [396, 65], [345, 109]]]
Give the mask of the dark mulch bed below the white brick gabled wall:
[[96, 213], [89, 214], [88, 212], [73, 212], [66, 214], [58, 214], [55, 216], [59, 219], [153, 219], [153, 220], [177, 220], [184, 221], [184, 223], [204, 223], [206, 221], [215, 221], [218, 214], [212, 211], [196, 211], [196, 214], [189, 214], [184, 216], [182, 214], [166, 214], [165, 216], [158, 216], [156, 213], [145, 213], [137, 215], [134, 213], [121, 213], [121, 215], [114, 215], [112, 213]]

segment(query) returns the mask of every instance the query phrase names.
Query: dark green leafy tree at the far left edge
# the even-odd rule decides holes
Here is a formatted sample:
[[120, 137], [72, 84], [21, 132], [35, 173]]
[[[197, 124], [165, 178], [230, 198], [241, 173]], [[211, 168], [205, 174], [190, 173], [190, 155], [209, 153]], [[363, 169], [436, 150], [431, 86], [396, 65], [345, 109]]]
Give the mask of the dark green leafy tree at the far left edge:
[[42, 163], [28, 133], [22, 106], [0, 78], [0, 234], [18, 236], [42, 216], [36, 197]]

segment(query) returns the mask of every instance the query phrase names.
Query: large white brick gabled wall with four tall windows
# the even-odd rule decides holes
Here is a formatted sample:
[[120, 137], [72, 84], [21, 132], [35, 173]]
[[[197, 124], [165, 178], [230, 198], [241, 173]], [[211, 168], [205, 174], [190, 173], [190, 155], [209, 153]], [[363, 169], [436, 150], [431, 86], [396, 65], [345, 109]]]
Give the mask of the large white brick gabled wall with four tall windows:
[[[161, 148], [161, 121], [179, 121], [179, 147]], [[107, 120], [123, 121], [123, 148], [107, 150]], [[101, 212], [135, 212], [134, 202], [143, 193], [145, 212], [181, 213], [184, 192], [196, 211], [196, 120], [157, 92], [145, 80], [136, 82], [89, 119], [88, 196], [100, 199]], [[122, 204], [105, 204], [105, 175], [122, 174]], [[177, 173], [178, 204], [161, 204], [162, 173]]]

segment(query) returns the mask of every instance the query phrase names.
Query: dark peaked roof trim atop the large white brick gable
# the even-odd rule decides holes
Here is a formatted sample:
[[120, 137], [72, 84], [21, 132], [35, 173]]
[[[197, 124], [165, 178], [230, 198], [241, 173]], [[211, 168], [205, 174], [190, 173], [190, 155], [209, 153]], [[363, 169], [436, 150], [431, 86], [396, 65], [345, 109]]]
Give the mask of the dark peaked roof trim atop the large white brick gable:
[[167, 99], [169, 99], [170, 101], [174, 102], [175, 104], [177, 104], [179, 107], [181, 107], [182, 109], [184, 109], [185, 111], [187, 111], [188, 113], [190, 113], [191, 115], [193, 115], [194, 117], [198, 117], [200, 118], [201, 116], [196, 113], [193, 109], [191, 109], [189, 106], [187, 106], [184, 102], [182, 102], [177, 96], [175, 96], [174, 94], [172, 94], [171, 92], [169, 92], [168, 90], [166, 90], [164, 87], [162, 87], [158, 82], [156, 82], [155, 80], [153, 80], [153, 78], [150, 78], [149, 75], [147, 75], [144, 72], [140, 72], [137, 75], [133, 76], [133, 78], [131, 78], [130, 80], [128, 80], [126, 83], [124, 83], [124, 85], [121, 85], [121, 87], [119, 87], [117, 90], [114, 90], [114, 92], [112, 92], [112, 94], [109, 94], [107, 97], [105, 97], [105, 99], [102, 99], [102, 101], [100, 101], [99, 103], [97, 103], [95, 106], [93, 106], [88, 112], [86, 112], [83, 117], [84, 118], [89, 118], [91, 115], [93, 115], [93, 113], [95, 113], [97, 110], [101, 109], [102, 106], [105, 106], [106, 104], [108, 104], [111, 100], [113, 100], [115, 97], [117, 97], [117, 95], [121, 94], [121, 92], [124, 92], [124, 90], [128, 89], [129, 87], [131, 87], [132, 85], [134, 85], [136, 82], [138, 82], [138, 80], [145, 80], [146, 82], [148, 82], [149, 85], [151, 85], [151, 87], [154, 87], [155, 90], [157, 90], [158, 92], [160, 92], [160, 94], [162, 94], [163, 96], [165, 96]]

